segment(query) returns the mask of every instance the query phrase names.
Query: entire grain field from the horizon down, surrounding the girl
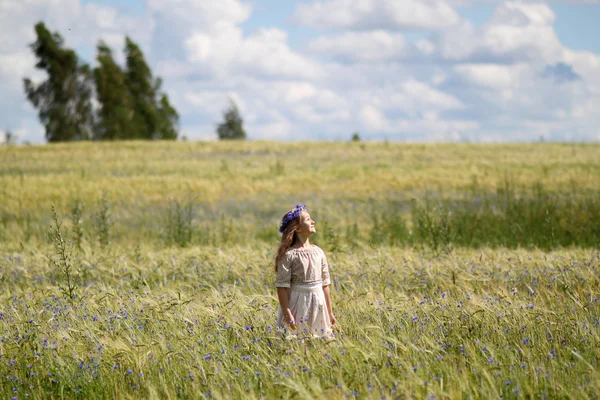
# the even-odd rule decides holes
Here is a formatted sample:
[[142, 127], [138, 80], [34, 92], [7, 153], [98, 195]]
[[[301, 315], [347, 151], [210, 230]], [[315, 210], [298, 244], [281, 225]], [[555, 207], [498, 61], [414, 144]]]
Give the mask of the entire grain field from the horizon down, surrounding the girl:
[[[597, 398], [599, 192], [597, 144], [0, 148], [0, 397]], [[297, 202], [333, 341], [274, 326]]]

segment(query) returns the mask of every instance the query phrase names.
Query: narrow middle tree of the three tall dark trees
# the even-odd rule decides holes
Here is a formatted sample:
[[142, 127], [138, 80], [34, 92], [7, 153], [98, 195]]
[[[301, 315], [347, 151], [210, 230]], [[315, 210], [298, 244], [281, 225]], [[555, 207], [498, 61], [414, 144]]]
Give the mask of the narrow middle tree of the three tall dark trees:
[[126, 139], [134, 135], [133, 102], [126, 84], [125, 72], [115, 62], [105, 43], [98, 44], [94, 69], [96, 96], [100, 108], [96, 135], [99, 139]]

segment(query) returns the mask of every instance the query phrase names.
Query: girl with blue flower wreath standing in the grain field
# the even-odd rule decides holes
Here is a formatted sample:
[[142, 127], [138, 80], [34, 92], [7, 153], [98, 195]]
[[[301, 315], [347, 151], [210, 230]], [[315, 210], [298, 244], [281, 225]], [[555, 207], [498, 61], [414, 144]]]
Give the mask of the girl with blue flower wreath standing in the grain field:
[[302, 204], [288, 211], [279, 228], [281, 243], [275, 257], [279, 327], [301, 335], [331, 337], [335, 317], [329, 296], [329, 265], [325, 253], [311, 245], [315, 222]]

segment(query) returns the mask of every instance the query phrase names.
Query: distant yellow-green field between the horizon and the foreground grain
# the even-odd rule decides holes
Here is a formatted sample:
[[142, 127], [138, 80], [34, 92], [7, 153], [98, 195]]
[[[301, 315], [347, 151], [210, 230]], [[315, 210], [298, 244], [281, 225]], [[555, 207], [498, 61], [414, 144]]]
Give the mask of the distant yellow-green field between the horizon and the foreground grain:
[[[600, 242], [599, 160], [596, 144], [5, 147], [0, 245], [44, 245], [50, 205], [73, 219], [78, 204], [77, 229], [90, 244], [160, 249], [252, 238], [270, 246], [283, 212], [303, 202], [326, 228], [329, 250], [344, 243], [437, 250], [593, 247]], [[424, 229], [419, 216], [447, 223], [443, 243], [434, 238], [441, 227]], [[330, 243], [331, 232], [337, 243]]]

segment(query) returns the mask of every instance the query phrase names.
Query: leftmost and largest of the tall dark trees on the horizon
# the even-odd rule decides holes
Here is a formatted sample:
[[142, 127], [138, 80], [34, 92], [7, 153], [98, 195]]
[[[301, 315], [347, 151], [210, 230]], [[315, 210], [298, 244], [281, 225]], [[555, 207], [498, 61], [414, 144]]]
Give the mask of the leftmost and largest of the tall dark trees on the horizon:
[[30, 45], [38, 59], [36, 68], [48, 79], [39, 85], [23, 79], [27, 99], [38, 109], [49, 142], [88, 139], [92, 133], [92, 89], [90, 68], [81, 64], [73, 50], [63, 48], [63, 39], [43, 22], [35, 25], [37, 40]]

